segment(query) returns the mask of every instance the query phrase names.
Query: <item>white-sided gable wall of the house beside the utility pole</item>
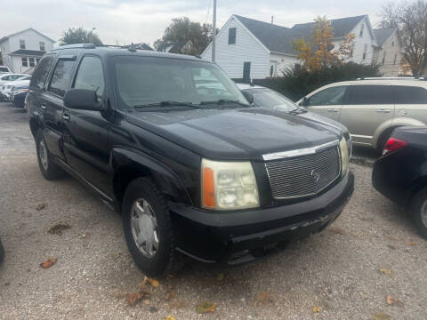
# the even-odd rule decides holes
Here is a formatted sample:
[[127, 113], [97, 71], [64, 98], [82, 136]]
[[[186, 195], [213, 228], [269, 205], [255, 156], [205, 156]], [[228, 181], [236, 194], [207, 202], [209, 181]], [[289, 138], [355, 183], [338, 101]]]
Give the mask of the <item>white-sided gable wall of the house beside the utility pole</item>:
[[[237, 28], [236, 44], [229, 44], [229, 28]], [[270, 68], [270, 54], [254, 36], [232, 17], [216, 36], [215, 62], [231, 78], [243, 77], [243, 65], [251, 62], [251, 78], [265, 78]], [[212, 59], [212, 44], [202, 57]]]

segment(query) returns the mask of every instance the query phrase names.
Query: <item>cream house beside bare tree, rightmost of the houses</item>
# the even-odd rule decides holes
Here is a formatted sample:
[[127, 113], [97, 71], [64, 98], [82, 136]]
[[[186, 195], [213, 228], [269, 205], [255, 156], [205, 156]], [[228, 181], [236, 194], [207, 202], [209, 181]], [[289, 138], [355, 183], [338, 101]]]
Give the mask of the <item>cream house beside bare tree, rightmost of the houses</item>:
[[377, 28], [374, 30], [378, 47], [375, 48], [374, 62], [380, 65], [383, 76], [399, 76], [403, 46], [398, 28]]

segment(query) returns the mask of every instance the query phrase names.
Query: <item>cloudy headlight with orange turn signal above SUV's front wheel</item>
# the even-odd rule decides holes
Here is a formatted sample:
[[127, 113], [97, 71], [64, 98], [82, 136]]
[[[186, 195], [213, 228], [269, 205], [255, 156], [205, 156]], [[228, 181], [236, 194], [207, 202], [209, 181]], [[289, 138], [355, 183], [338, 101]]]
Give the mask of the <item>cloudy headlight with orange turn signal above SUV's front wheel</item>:
[[254, 169], [250, 162], [202, 159], [202, 206], [233, 210], [260, 205]]

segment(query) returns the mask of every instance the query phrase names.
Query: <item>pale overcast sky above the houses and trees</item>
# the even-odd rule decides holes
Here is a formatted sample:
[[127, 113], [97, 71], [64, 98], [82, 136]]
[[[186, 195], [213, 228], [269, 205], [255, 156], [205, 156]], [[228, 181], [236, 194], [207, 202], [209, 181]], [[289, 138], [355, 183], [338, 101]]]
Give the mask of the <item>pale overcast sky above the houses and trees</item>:
[[[384, 0], [386, 1], [386, 0]], [[378, 20], [382, 0], [218, 0], [221, 28], [235, 13], [292, 27], [318, 15], [329, 19], [368, 14]], [[96, 28], [104, 44], [153, 42], [174, 17], [212, 20], [213, 0], [0, 0], [0, 37], [32, 27], [58, 40], [68, 27]], [[209, 15], [208, 15], [209, 11]]]

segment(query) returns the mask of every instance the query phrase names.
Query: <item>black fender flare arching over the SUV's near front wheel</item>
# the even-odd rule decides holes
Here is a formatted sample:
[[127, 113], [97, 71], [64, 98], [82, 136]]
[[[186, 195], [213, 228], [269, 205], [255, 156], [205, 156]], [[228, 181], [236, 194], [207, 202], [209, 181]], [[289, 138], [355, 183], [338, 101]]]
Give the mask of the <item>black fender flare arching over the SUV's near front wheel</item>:
[[160, 191], [174, 201], [192, 204], [187, 188], [182, 184], [180, 177], [154, 156], [133, 148], [117, 147], [111, 150], [110, 165], [114, 172], [114, 178], [111, 180], [113, 190], [115, 190], [117, 174], [126, 168], [149, 176], [155, 181]]

